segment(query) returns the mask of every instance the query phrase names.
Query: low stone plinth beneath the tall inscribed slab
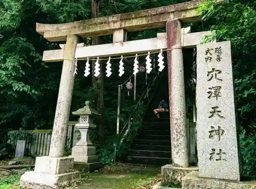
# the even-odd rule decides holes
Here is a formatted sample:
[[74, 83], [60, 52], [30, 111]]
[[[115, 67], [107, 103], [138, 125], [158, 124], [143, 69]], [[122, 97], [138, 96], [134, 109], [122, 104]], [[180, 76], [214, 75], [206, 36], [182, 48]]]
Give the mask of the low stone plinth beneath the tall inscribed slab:
[[256, 181], [230, 181], [199, 177], [199, 172], [193, 171], [182, 178], [182, 189], [255, 189]]

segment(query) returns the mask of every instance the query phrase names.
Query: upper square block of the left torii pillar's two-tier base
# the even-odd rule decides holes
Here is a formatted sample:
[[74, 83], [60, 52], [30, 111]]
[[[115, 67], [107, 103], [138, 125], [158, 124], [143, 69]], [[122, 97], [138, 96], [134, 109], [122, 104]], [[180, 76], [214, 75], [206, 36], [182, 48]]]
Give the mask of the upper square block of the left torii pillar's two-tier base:
[[74, 158], [71, 157], [36, 157], [35, 172], [45, 174], [62, 174], [73, 170]]

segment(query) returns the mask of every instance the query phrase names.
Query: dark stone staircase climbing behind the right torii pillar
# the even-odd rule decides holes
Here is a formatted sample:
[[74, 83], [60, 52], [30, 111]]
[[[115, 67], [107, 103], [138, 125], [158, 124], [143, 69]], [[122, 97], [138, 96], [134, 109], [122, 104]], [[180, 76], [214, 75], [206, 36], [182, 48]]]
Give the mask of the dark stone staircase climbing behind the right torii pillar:
[[170, 157], [169, 117], [148, 119], [143, 122], [143, 126], [126, 157], [126, 162], [163, 166], [169, 163]]

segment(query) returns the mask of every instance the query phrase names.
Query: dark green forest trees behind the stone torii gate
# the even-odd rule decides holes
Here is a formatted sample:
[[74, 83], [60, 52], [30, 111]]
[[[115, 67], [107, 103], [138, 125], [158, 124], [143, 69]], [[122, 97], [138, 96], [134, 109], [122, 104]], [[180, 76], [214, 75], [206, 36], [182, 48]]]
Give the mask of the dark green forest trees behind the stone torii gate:
[[[108, 16], [182, 3], [182, 0], [101, 0], [96, 16]], [[42, 62], [42, 52], [59, 49], [58, 43], [45, 40], [35, 31], [35, 23], [61, 23], [92, 16], [91, 1], [1, 0], [0, 1], [0, 138], [6, 141], [8, 130], [51, 129], [58, 95], [62, 63]], [[236, 103], [240, 125], [240, 144], [243, 173], [256, 175], [256, 2], [229, 0], [214, 5], [207, 0], [199, 8], [201, 23], [190, 26], [193, 31], [216, 30], [218, 41], [231, 40]], [[128, 34], [129, 40], [151, 38], [165, 29]], [[206, 40], [210, 40], [209, 36]], [[90, 38], [84, 41], [92, 44]], [[110, 43], [111, 36], [101, 37]], [[116, 130], [117, 86], [132, 74], [133, 60], [126, 60], [127, 72], [118, 77], [118, 61], [112, 62], [113, 75], [104, 78], [104, 141], [99, 143], [98, 131], [93, 140], [103, 163], [111, 162], [110, 148]], [[84, 62], [85, 63], [85, 62]], [[99, 90], [92, 87], [92, 78], [83, 77], [84, 63], [80, 62], [75, 80], [71, 110], [80, 108], [85, 100], [98, 103]], [[105, 66], [105, 62], [102, 62]], [[130, 68], [129, 68], [130, 66]], [[103, 67], [104, 69], [104, 67]], [[141, 92], [144, 84], [138, 86]], [[126, 98], [122, 104], [122, 119], [133, 111], [135, 103]], [[138, 109], [143, 112], [143, 109]], [[138, 113], [138, 115], [142, 113]], [[71, 115], [71, 120], [76, 117]], [[102, 123], [101, 123], [102, 124]], [[102, 131], [101, 131], [102, 134]], [[111, 144], [111, 147], [110, 145]]]

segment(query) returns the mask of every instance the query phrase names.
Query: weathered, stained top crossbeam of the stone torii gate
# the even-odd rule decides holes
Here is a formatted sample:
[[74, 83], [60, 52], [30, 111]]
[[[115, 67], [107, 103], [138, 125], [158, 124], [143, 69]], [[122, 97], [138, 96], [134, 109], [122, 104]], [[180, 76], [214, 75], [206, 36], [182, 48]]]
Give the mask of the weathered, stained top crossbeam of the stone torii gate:
[[36, 31], [49, 41], [66, 41], [67, 35], [92, 37], [110, 35], [115, 30], [142, 31], [165, 27], [169, 19], [183, 22], [199, 20], [197, 8], [202, 0], [158, 7], [153, 9], [116, 14], [88, 20], [59, 24], [36, 23]]

